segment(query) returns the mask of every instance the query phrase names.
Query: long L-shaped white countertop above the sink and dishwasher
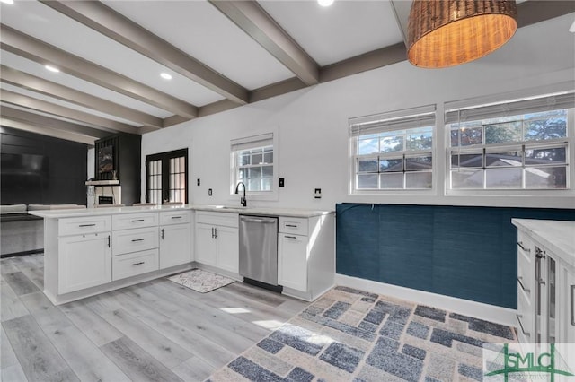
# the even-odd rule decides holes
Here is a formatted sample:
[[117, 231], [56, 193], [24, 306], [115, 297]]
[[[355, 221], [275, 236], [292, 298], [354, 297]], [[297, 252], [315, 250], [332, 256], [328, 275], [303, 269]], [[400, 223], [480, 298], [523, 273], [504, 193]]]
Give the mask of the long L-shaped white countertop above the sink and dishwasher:
[[34, 216], [40, 216], [41, 218], [45, 219], [60, 219], [60, 218], [72, 218], [81, 216], [112, 215], [119, 213], [162, 212], [162, 211], [173, 211], [174, 209], [210, 211], [217, 213], [245, 213], [251, 215], [266, 215], [266, 216], [289, 216], [289, 217], [301, 217], [301, 218], [322, 216], [333, 213], [333, 211], [315, 211], [300, 208], [242, 207], [234, 205], [224, 206], [224, 205], [203, 205], [203, 204], [84, 208], [77, 210], [39, 210], [39, 211], [29, 211], [28, 213]]

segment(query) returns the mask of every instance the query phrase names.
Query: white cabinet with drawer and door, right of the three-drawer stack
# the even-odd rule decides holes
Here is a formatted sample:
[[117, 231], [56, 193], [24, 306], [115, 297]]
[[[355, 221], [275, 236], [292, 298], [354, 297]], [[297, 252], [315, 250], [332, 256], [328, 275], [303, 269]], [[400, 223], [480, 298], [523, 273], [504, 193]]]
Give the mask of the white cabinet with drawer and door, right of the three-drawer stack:
[[187, 210], [160, 213], [160, 269], [192, 261], [190, 221]]

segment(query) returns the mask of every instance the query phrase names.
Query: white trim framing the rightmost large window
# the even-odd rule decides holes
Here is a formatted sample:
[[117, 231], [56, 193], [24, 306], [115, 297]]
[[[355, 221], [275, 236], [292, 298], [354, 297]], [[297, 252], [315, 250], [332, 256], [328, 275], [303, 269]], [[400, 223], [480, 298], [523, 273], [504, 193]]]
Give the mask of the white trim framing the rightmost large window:
[[[506, 100], [518, 99], [521, 97], [536, 97], [537, 95], [544, 96], [544, 94], [551, 94], [554, 91], [549, 91], [550, 89], [556, 91], [572, 91], [572, 88], [566, 88], [565, 83], [556, 84], [550, 87], [546, 87], [543, 90], [537, 91], [530, 89], [529, 91], [524, 91], [521, 93], [513, 92], [506, 93], [503, 95], [493, 95], [489, 97], [482, 97], [472, 100], [461, 100], [456, 102], [448, 102], [444, 105], [445, 110], [455, 109], [456, 107], [469, 107], [473, 105], [479, 105], [481, 102], [485, 103], [497, 103], [505, 102]], [[444, 112], [445, 116], [445, 112]], [[567, 142], [568, 144], [568, 162], [567, 162], [567, 184], [570, 188], [568, 189], [452, 189], [450, 187], [450, 169], [451, 169], [451, 135], [448, 131], [448, 124], [443, 121], [443, 130], [445, 133], [445, 139], [443, 141], [444, 145], [444, 156], [445, 156], [445, 172], [444, 172], [444, 193], [446, 196], [470, 196], [473, 198], [481, 197], [528, 197], [528, 196], [539, 196], [539, 197], [573, 197], [575, 196], [575, 107], [568, 109], [567, 112], [567, 137], [557, 140], [559, 142]], [[549, 144], [555, 142], [548, 141]], [[542, 143], [544, 144], [544, 143]], [[477, 146], [479, 147], [479, 146]], [[483, 146], [481, 146], [483, 147]], [[465, 148], [470, 148], [469, 146]]]

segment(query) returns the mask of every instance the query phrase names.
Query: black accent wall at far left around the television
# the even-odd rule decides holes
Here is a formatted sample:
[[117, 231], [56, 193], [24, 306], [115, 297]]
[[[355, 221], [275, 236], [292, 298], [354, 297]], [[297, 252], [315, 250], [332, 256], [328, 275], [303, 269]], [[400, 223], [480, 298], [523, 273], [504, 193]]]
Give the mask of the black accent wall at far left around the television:
[[43, 163], [34, 174], [0, 168], [0, 204], [86, 204], [86, 144], [4, 126], [0, 127], [0, 143], [2, 155], [23, 154], [24, 161], [41, 157]]

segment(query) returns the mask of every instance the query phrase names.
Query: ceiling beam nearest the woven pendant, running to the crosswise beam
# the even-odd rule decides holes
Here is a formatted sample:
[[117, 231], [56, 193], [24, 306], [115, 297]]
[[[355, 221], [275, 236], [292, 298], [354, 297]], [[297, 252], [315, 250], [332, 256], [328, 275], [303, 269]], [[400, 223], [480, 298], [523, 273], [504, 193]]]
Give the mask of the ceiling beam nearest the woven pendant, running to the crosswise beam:
[[306, 85], [319, 82], [319, 66], [256, 1], [208, 0]]

